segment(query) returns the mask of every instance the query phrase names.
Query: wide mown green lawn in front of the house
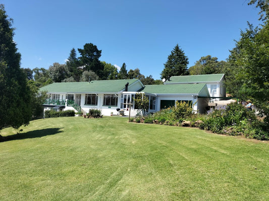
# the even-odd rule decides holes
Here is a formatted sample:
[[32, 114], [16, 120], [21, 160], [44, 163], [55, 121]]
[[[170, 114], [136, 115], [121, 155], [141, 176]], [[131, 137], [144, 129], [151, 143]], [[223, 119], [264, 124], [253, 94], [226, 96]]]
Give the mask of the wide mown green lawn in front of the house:
[[126, 118], [4, 129], [0, 200], [269, 200], [269, 144]]

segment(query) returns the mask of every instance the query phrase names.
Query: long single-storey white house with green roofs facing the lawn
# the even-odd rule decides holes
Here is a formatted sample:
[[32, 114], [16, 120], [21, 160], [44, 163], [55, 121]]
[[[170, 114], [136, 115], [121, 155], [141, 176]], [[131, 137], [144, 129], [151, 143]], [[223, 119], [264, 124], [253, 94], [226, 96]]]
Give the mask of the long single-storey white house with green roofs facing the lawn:
[[149, 112], [152, 113], [174, 106], [177, 100], [193, 103], [193, 109], [203, 113], [208, 103], [208, 98], [204, 97], [210, 96], [206, 84], [143, 85], [139, 79], [58, 82], [40, 90], [47, 91], [50, 96], [43, 105], [44, 110], [75, 109], [85, 114], [89, 109], [98, 109], [104, 116], [120, 112], [137, 115], [139, 111], [133, 101], [137, 92], [148, 97]]

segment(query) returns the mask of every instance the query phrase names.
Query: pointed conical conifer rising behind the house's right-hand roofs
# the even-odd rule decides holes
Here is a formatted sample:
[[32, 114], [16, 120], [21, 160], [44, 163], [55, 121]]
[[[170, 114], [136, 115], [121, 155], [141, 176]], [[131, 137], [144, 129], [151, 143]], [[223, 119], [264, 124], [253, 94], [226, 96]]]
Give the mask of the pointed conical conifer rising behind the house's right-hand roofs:
[[177, 44], [168, 56], [167, 62], [164, 64], [165, 68], [160, 74], [161, 78], [167, 79], [171, 76], [187, 75], [188, 64], [188, 57], [185, 56], [184, 51], [180, 49]]

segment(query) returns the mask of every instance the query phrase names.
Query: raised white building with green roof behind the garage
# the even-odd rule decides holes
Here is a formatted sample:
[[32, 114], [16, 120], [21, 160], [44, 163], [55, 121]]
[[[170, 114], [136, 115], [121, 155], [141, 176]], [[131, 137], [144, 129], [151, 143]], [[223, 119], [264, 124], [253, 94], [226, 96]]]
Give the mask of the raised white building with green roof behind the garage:
[[226, 96], [226, 88], [224, 86], [224, 74], [209, 75], [184, 75], [172, 76], [164, 84], [206, 84], [210, 96], [214, 100], [220, 100]]

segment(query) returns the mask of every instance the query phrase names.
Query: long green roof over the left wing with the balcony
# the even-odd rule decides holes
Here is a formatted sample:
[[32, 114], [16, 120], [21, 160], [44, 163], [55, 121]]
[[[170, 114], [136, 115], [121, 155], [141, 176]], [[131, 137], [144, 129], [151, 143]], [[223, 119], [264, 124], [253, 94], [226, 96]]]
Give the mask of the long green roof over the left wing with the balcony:
[[125, 84], [129, 86], [139, 79], [116, 79], [116, 80], [94, 80], [90, 82], [56, 82], [41, 87], [39, 90], [47, 92], [67, 92], [67, 93], [89, 93], [89, 92], [109, 92], [117, 93], [125, 89]]

